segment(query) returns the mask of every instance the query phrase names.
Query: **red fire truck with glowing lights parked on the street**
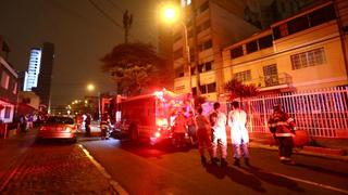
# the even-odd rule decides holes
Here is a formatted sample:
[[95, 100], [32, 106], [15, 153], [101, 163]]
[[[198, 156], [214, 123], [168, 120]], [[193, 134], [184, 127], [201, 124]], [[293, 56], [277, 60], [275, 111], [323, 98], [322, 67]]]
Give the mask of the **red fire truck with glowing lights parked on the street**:
[[190, 109], [189, 96], [163, 90], [128, 99], [119, 99], [116, 122], [122, 134], [151, 144], [172, 136], [172, 121], [178, 109]]

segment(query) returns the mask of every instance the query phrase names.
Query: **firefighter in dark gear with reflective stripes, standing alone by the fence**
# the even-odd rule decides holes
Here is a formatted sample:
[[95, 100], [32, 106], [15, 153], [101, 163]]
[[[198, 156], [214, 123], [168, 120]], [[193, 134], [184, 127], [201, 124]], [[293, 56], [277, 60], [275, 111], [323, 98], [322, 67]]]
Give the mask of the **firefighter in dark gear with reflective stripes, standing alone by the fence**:
[[295, 164], [291, 160], [296, 123], [294, 119], [283, 110], [282, 105], [273, 106], [273, 115], [269, 119], [270, 131], [278, 142], [279, 159], [286, 164]]

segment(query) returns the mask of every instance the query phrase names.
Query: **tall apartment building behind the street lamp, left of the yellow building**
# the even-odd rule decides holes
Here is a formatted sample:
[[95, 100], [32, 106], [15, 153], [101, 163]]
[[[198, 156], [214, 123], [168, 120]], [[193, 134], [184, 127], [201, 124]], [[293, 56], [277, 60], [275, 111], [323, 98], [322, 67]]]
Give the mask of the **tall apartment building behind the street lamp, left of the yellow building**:
[[185, 28], [177, 25], [173, 35], [174, 92], [191, 91], [216, 100], [224, 81], [222, 49], [260, 29], [226, 9], [235, 8], [235, 1], [192, 0], [183, 1], [183, 6], [189, 52]]

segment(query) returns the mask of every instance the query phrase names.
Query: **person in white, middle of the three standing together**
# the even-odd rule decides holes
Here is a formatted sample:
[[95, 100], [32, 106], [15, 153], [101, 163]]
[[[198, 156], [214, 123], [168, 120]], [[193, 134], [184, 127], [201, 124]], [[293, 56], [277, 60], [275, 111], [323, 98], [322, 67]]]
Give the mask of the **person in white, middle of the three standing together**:
[[214, 103], [214, 112], [209, 116], [212, 126], [212, 165], [217, 165], [217, 147], [221, 150], [221, 166], [227, 166], [226, 115], [220, 112], [220, 103]]

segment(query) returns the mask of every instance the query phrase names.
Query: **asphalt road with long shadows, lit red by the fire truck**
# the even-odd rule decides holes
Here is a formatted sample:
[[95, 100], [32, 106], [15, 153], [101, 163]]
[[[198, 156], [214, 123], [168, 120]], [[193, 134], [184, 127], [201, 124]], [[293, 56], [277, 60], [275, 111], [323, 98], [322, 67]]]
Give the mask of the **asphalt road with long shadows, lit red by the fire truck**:
[[[129, 194], [348, 194], [347, 162], [250, 148], [252, 167], [202, 166], [197, 148], [169, 150], [121, 142], [84, 141], [89, 153]], [[231, 146], [228, 146], [231, 150]]]

